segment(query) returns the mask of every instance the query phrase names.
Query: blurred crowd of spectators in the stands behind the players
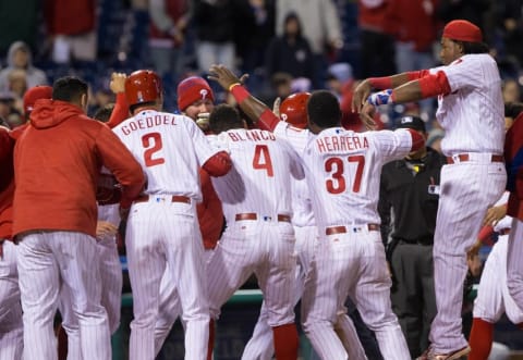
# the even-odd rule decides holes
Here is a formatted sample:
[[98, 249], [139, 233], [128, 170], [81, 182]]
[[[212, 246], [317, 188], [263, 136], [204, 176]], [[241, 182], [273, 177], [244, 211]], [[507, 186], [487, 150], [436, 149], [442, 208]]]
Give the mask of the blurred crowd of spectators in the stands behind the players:
[[[63, 75], [90, 84], [93, 114], [113, 101], [110, 74], [138, 69], [161, 74], [165, 108], [175, 112], [177, 84], [222, 63], [250, 74], [247, 87], [269, 107], [292, 92], [331, 89], [343, 125], [360, 129], [350, 109], [357, 79], [438, 65], [440, 32], [453, 18], [483, 29], [504, 101], [520, 101], [522, 13], [523, 0], [1, 0], [0, 117], [23, 122], [25, 90]], [[379, 120], [393, 127], [418, 114], [437, 148], [435, 109], [433, 100], [397, 105]]]

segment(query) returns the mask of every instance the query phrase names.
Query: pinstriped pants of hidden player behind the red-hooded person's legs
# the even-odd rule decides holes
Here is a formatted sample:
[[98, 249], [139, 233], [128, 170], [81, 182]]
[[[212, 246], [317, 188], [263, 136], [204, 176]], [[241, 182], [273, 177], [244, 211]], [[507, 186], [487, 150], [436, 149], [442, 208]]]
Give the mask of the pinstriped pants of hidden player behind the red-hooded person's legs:
[[[100, 303], [107, 311], [109, 331], [113, 334], [120, 326], [122, 307], [122, 265], [118, 256], [115, 236], [97, 238], [97, 248], [101, 278]], [[62, 287], [58, 308], [62, 314], [62, 326], [68, 334], [68, 359], [82, 360], [80, 326], [70, 298], [69, 288]]]

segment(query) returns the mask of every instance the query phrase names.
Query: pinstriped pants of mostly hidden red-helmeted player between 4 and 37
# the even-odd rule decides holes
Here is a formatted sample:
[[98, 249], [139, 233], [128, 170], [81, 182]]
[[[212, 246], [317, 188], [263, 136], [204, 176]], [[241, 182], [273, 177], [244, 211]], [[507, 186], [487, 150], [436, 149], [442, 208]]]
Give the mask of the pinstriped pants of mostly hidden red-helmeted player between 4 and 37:
[[[302, 298], [304, 282], [313, 261], [315, 249], [318, 245], [318, 229], [316, 226], [294, 226], [296, 236], [295, 252], [297, 255], [296, 288], [294, 291], [294, 305]], [[248, 340], [242, 353], [242, 360], [271, 360], [275, 353], [272, 328], [267, 323], [267, 307], [262, 303], [258, 321], [254, 327], [253, 336]], [[340, 314], [337, 324], [340, 336], [343, 336], [349, 358], [354, 360], [366, 359], [363, 347], [356, 334], [352, 320], [346, 313]]]

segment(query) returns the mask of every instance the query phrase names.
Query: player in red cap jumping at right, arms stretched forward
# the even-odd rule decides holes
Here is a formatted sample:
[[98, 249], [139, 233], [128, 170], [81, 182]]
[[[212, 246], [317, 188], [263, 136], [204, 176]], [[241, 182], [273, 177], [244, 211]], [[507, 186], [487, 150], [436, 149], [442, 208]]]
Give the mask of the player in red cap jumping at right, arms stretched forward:
[[[438, 96], [436, 117], [446, 132], [441, 150], [441, 195], [434, 236], [436, 305], [431, 345], [421, 359], [453, 360], [470, 352], [462, 333], [466, 251], [489, 207], [503, 191], [503, 101], [496, 61], [481, 29], [457, 20], [445, 26], [445, 65], [389, 77], [369, 78], [354, 91], [353, 109], [372, 125], [376, 105]], [[385, 89], [370, 96], [373, 88]]]

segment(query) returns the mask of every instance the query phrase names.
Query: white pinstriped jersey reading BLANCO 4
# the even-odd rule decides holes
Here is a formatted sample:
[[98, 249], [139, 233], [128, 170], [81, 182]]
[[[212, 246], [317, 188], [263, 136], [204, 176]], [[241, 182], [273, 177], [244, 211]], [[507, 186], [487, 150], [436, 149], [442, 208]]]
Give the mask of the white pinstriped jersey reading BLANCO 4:
[[292, 214], [291, 178], [304, 175], [297, 154], [287, 142], [269, 132], [244, 128], [209, 138], [230, 152], [233, 163], [226, 176], [212, 178], [228, 221], [244, 212]]

